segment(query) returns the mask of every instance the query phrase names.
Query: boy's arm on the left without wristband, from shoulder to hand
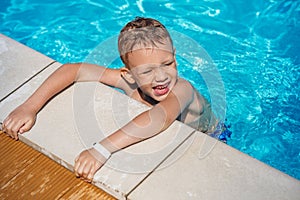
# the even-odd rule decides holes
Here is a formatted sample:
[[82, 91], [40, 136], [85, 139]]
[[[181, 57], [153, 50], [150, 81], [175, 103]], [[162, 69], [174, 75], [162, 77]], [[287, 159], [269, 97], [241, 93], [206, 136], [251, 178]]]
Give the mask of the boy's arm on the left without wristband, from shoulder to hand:
[[[106, 69], [92, 64], [65, 64], [53, 72], [42, 85], [3, 121], [3, 131], [18, 140], [18, 133], [28, 131], [34, 124], [36, 114], [54, 95], [76, 81], [100, 81], [119, 86], [122, 81], [118, 70]], [[110, 78], [106, 78], [108, 75]]]

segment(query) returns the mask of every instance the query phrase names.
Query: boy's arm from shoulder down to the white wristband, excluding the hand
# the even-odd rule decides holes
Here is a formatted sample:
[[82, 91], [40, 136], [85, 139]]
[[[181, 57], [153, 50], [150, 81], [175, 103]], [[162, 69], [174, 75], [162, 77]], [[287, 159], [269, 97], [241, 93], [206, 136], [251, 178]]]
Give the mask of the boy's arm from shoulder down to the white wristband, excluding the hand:
[[167, 129], [193, 98], [192, 86], [181, 80], [164, 101], [136, 116], [124, 127], [102, 140], [100, 144], [110, 152], [116, 152], [150, 138]]

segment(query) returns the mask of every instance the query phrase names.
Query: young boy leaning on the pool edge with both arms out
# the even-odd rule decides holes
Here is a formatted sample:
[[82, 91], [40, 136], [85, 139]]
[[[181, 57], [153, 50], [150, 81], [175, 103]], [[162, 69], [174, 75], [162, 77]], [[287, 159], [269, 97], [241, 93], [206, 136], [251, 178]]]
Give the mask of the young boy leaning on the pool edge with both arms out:
[[49, 99], [79, 81], [99, 81], [120, 88], [128, 96], [151, 106], [75, 159], [76, 176], [90, 182], [112, 153], [162, 132], [176, 119], [207, 133], [213, 133], [219, 126], [207, 100], [189, 82], [178, 77], [172, 39], [160, 22], [150, 18], [129, 22], [121, 30], [118, 48], [125, 67], [62, 65], [9, 114], [3, 130], [18, 140], [18, 133], [33, 126], [37, 113]]

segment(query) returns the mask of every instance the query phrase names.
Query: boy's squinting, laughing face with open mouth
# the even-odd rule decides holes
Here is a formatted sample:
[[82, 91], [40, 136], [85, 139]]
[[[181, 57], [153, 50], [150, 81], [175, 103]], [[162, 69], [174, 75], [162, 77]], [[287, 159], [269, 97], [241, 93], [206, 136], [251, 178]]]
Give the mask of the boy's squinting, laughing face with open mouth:
[[164, 100], [177, 81], [176, 60], [172, 48], [143, 48], [128, 54], [127, 65], [141, 91]]

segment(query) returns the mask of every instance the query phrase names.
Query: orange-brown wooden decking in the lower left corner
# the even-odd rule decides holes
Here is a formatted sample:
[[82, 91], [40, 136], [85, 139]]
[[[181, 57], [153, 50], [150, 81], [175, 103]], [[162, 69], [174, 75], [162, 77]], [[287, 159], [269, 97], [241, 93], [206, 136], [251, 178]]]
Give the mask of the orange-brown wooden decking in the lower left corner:
[[114, 199], [0, 132], [0, 199]]

